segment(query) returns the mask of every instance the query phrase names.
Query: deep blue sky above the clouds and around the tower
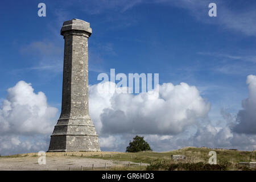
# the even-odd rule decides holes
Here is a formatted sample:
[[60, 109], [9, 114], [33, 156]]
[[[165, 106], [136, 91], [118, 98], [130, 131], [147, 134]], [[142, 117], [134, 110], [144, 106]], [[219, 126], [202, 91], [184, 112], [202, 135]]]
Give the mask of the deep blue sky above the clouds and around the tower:
[[[46, 17], [38, 16], [40, 2], [46, 4]], [[217, 4], [217, 17], [208, 15], [210, 2]], [[240, 0], [1, 1], [0, 101], [23, 80], [60, 113], [60, 28], [65, 20], [78, 18], [93, 30], [90, 85], [98, 84], [97, 75], [109, 74], [110, 68], [125, 74], [159, 73], [159, 84], [196, 86], [210, 103], [211, 123], [224, 127], [221, 111], [236, 118], [248, 97], [246, 77], [256, 75], [255, 7], [255, 1]]]

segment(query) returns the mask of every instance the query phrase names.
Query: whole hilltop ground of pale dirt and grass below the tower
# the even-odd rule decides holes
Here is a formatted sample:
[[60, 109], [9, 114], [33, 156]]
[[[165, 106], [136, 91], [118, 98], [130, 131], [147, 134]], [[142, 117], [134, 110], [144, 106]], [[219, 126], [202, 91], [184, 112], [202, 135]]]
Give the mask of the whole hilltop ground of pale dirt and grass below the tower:
[[[46, 153], [46, 165], [39, 165], [37, 163], [39, 156], [36, 153], [1, 156], [0, 170], [68, 170], [69, 167], [71, 167], [71, 170], [81, 170], [82, 166], [84, 170], [91, 170], [105, 169], [105, 165], [107, 166], [107, 170], [169, 169], [171, 164], [175, 164], [176, 166], [179, 163], [208, 164], [210, 158], [208, 154], [211, 150], [217, 153], [217, 164], [225, 166], [226, 170], [247, 169], [239, 167], [238, 163], [256, 161], [256, 151], [185, 147], [180, 150], [167, 152]], [[185, 155], [186, 159], [175, 161], [171, 159], [171, 155]]]

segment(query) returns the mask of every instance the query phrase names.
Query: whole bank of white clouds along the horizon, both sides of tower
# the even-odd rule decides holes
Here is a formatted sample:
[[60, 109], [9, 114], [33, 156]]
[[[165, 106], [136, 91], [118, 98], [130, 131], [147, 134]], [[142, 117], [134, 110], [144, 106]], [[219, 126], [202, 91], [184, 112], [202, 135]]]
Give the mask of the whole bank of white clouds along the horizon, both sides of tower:
[[[125, 151], [135, 135], [144, 136], [155, 151], [185, 146], [255, 150], [256, 76], [248, 76], [246, 83], [249, 97], [242, 101], [237, 124], [222, 111], [227, 123], [224, 127], [210, 123], [210, 104], [195, 86], [183, 82], [159, 85], [154, 100], [149, 93], [98, 92], [98, 86], [108, 88], [115, 86], [113, 82], [90, 85], [90, 117], [100, 135], [102, 150]], [[0, 154], [46, 151], [57, 113], [47, 104], [45, 94], [35, 93], [31, 84], [19, 81], [9, 88], [0, 106]]]

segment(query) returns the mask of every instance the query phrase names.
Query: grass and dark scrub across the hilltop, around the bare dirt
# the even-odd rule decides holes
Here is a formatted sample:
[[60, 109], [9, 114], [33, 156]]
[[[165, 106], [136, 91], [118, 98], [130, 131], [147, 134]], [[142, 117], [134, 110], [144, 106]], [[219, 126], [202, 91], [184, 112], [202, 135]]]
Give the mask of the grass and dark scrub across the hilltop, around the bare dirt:
[[[209, 166], [208, 160], [210, 158], [209, 151], [216, 151], [218, 166]], [[35, 153], [34, 153], [35, 154]], [[59, 155], [58, 155], [59, 154]], [[73, 154], [73, 155], [72, 155]], [[185, 147], [180, 150], [168, 151], [168, 152], [69, 152], [69, 153], [56, 153], [54, 155], [47, 154], [48, 157], [55, 156], [64, 158], [76, 157], [81, 158], [93, 158], [93, 159], [105, 159], [113, 160], [116, 167], [108, 168], [107, 170], [251, 170], [246, 166], [238, 165], [239, 162], [256, 162], [256, 151], [238, 151], [236, 149], [228, 150], [221, 148], [207, 148], [207, 147]], [[171, 155], [185, 155], [185, 160], [174, 161], [171, 159]], [[38, 155], [11, 155], [1, 156], [2, 158], [21, 158], [24, 156], [38, 157]], [[59, 159], [56, 159], [59, 160]], [[130, 161], [137, 164], [121, 164], [119, 162]], [[139, 163], [151, 164], [150, 166], [140, 166]], [[72, 164], [68, 164], [72, 165]], [[79, 169], [78, 169], [79, 170]], [[90, 170], [90, 168], [88, 168]], [[97, 170], [97, 169], [96, 169]], [[105, 168], [101, 168], [105, 170]]]

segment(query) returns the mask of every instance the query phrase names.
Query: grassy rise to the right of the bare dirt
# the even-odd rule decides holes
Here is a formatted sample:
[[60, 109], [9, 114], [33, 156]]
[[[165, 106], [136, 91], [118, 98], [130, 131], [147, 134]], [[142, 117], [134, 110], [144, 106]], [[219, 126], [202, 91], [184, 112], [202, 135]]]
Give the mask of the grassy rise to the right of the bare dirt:
[[[210, 158], [209, 151], [216, 151], [217, 153], [217, 164], [216, 167], [209, 167], [208, 160]], [[184, 169], [193, 169], [193, 168], [201, 168], [201, 169], [209, 169], [209, 170], [244, 170], [246, 167], [241, 167], [238, 165], [239, 162], [255, 162], [256, 151], [238, 151], [238, 150], [228, 150], [221, 148], [207, 148], [207, 147], [185, 147], [180, 150], [170, 151], [170, 152], [135, 152], [129, 153], [125, 152], [122, 154], [114, 154], [111, 155], [92, 155], [86, 156], [87, 158], [95, 158], [95, 159], [106, 159], [106, 160], [116, 160], [116, 161], [130, 161], [135, 163], [147, 163], [154, 165], [166, 165], [170, 167], [170, 165], [177, 165], [179, 161], [174, 161], [171, 159], [171, 155], [185, 155], [186, 159], [179, 164], [177, 168]], [[121, 157], [120, 157], [121, 156]], [[184, 164], [188, 163], [188, 164]], [[198, 163], [198, 164], [196, 164]], [[203, 164], [204, 165], [203, 165]], [[192, 164], [194, 166], [189, 166]], [[151, 166], [152, 166], [151, 165]], [[205, 166], [206, 165], [206, 166]], [[167, 169], [167, 168], [164, 168]]]

